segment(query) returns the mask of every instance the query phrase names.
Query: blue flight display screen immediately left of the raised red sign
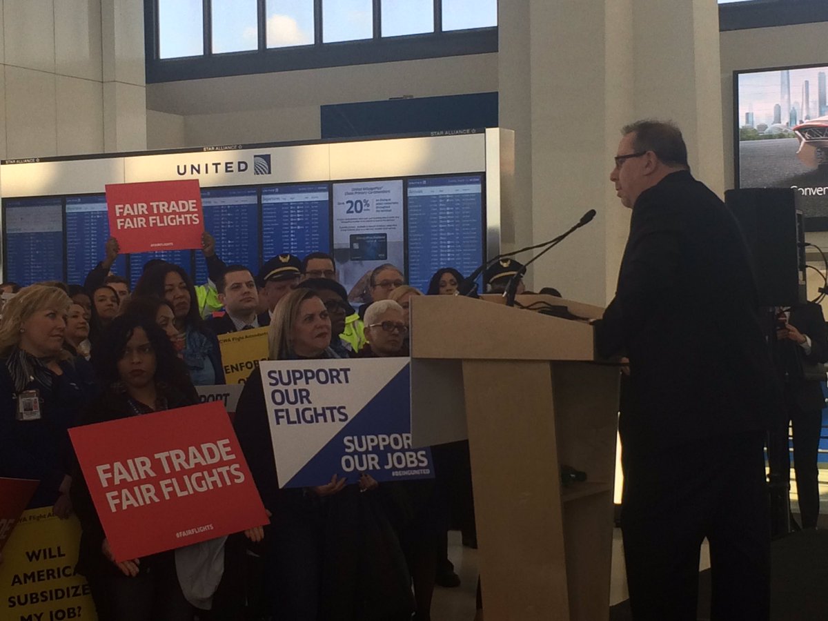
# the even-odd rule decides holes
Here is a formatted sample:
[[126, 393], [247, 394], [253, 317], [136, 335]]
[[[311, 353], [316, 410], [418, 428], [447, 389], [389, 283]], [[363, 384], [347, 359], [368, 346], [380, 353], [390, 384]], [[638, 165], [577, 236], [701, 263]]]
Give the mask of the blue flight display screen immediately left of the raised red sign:
[[[67, 196], [66, 282], [84, 284], [86, 275], [103, 258], [108, 238], [106, 195]], [[112, 272], [127, 276], [126, 255], [118, 255]]]

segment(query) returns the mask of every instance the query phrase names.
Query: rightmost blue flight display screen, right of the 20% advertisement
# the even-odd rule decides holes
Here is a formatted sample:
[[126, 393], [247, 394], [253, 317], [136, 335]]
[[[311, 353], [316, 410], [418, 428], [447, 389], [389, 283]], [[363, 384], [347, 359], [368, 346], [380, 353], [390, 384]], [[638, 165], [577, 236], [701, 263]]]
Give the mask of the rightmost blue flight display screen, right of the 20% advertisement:
[[426, 291], [440, 267], [474, 272], [484, 262], [481, 176], [409, 179], [407, 195], [408, 282]]

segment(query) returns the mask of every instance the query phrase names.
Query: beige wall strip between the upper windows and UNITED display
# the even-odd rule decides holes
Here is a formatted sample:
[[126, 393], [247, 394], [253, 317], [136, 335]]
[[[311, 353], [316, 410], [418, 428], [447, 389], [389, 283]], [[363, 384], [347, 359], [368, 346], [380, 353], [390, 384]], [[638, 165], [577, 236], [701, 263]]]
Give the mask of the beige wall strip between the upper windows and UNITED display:
[[[320, 106], [498, 90], [498, 55], [405, 60], [147, 85], [147, 108], [184, 117], [178, 147], [320, 138]], [[147, 147], [169, 147], [148, 116]]]

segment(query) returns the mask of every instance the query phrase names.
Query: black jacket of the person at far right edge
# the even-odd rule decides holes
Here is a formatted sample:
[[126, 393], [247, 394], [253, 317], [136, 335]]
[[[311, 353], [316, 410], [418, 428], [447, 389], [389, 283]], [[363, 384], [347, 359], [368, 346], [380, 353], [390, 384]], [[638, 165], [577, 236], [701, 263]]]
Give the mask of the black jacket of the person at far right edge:
[[811, 339], [811, 353], [806, 355], [792, 340], [777, 341], [773, 349], [777, 372], [798, 407], [806, 412], [821, 410], [825, 407], [822, 387], [818, 380], [804, 377], [802, 364], [828, 361], [828, 330], [822, 307], [812, 302], [793, 306], [787, 322]]

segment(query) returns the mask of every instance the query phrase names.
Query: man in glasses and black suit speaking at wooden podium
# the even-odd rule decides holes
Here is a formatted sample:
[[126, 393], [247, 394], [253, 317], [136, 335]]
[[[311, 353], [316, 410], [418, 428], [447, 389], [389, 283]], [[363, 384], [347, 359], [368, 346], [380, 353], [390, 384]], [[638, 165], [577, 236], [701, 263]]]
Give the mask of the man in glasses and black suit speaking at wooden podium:
[[633, 209], [599, 354], [629, 359], [619, 421], [633, 617], [696, 619], [710, 542], [712, 619], [768, 619], [763, 434], [779, 407], [741, 233], [696, 181], [671, 123], [623, 128], [610, 181]]

